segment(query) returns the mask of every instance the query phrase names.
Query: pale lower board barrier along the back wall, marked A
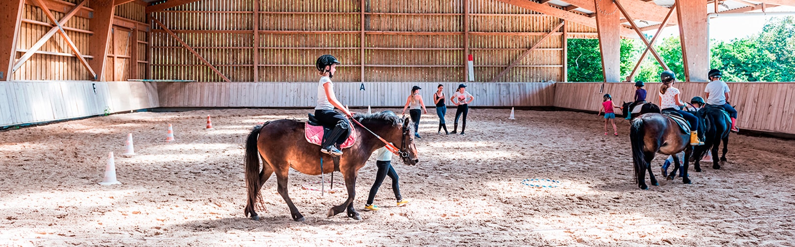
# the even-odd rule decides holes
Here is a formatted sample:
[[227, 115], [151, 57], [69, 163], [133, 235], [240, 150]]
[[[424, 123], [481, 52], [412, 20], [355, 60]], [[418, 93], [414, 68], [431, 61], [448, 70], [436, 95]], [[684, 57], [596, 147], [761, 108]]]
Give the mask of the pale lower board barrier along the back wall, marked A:
[[[359, 90], [362, 84], [364, 91]], [[433, 106], [436, 86], [448, 97], [458, 83], [335, 83], [339, 102], [351, 107], [403, 106], [414, 85]], [[313, 107], [317, 83], [157, 83], [162, 107]], [[467, 83], [471, 106], [552, 106], [554, 83]]]

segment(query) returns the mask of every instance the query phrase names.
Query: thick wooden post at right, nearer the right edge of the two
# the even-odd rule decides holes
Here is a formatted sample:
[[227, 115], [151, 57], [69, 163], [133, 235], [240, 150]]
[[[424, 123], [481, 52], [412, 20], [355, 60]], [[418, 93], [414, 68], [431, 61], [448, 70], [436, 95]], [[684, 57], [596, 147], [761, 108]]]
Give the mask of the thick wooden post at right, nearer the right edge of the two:
[[684, 77], [688, 82], [708, 81], [709, 41], [704, 13], [707, 13], [707, 0], [677, 0]]

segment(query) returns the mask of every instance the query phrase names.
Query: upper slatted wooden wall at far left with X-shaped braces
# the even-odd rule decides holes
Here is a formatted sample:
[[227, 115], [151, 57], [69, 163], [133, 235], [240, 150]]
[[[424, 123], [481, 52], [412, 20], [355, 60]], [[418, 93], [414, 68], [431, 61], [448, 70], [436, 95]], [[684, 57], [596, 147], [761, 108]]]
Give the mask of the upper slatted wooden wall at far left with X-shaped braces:
[[[82, 0], [46, 0], [44, 1], [56, 19], [64, 17], [73, 6]], [[87, 2], [82, 10], [78, 11], [74, 17], [64, 24], [68, 37], [74, 42], [76, 48], [83, 53], [86, 60], [101, 59], [102, 54], [89, 54], [92, 45], [91, 35], [94, 32], [90, 29], [92, 21], [91, 0]], [[20, 32], [17, 36], [16, 58], [18, 60], [29, 48], [33, 46], [41, 37], [52, 28], [52, 21], [46, 17], [40, 7], [25, 2], [23, 20]], [[103, 73], [104, 80], [125, 80], [130, 78], [145, 78], [147, 68], [147, 44], [148, 26], [145, 16], [144, 2], [128, 2], [116, 6], [114, 17], [114, 37], [111, 41], [110, 54], [107, 56], [107, 66]], [[5, 24], [4, 24], [5, 25]], [[119, 32], [116, 32], [119, 30]], [[138, 37], [128, 33], [136, 30]], [[141, 42], [133, 41], [133, 37]], [[132, 61], [135, 56], [130, 54], [135, 45], [138, 56], [136, 61]], [[132, 67], [135, 66], [135, 70]], [[136, 76], [130, 77], [130, 73], [135, 71]], [[95, 72], [97, 69], [95, 69]], [[11, 80], [91, 80], [91, 73], [88, 72], [83, 64], [77, 59], [68, 44], [60, 34], [56, 33], [51, 37], [38, 52], [14, 72]]]

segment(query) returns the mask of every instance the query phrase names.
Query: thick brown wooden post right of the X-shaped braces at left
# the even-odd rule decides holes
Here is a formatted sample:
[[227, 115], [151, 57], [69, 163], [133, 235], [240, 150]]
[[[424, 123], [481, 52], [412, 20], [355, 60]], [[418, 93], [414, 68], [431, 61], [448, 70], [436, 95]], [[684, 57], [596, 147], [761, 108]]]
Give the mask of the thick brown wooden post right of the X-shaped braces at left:
[[114, 8], [114, 0], [92, 0], [91, 7], [94, 8], [94, 18], [91, 19], [88, 26], [94, 35], [88, 38], [88, 44], [91, 44], [88, 52], [94, 56], [94, 59], [89, 64], [96, 71], [94, 79], [103, 81], [105, 80], [103, 75], [108, 47], [111, 44], [111, 23], [116, 8]]

